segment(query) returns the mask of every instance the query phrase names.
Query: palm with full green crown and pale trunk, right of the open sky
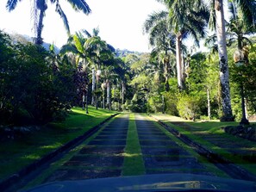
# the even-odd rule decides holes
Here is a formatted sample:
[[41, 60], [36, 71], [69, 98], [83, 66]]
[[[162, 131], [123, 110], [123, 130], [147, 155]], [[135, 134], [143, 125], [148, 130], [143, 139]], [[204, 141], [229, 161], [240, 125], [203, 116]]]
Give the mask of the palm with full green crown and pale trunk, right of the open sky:
[[199, 46], [199, 38], [205, 35], [205, 26], [209, 19], [206, 5], [201, 1], [158, 0], [169, 9], [168, 27], [176, 35], [176, 60], [178, 87], [184, 90], [184, 69], [182, 58], [182, 40], [189, 36]]

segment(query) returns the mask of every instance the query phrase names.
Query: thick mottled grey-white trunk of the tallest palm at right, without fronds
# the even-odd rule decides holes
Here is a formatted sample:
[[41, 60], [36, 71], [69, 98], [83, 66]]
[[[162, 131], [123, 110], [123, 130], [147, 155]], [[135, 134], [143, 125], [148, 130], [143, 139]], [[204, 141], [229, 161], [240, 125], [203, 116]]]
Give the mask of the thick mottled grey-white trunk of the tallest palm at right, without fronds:
[[216, 34], [218, 41], [218, 52], [220, 59], [220, 80], [222, 92], [222, 118], [221, 121], [234, 121], [232, 114], [229, 74], [228, 74], [228, 55], [225, 34], [225, 21], [222, 0], [215, 0], [215, 16], [216, 16]]

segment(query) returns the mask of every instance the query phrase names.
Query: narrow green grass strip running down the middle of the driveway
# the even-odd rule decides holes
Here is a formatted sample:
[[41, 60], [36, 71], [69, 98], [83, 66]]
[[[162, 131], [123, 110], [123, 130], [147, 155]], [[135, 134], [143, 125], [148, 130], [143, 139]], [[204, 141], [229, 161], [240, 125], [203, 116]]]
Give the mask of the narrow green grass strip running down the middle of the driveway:
[[145, 166], [140, 150], [140, 143], [137, 128], [134, 120], [134, 114], [130, 115], [127, 145], [124, 152], [124, 163], [122, 167], [122, 176], [136, 176], [145, 174]]

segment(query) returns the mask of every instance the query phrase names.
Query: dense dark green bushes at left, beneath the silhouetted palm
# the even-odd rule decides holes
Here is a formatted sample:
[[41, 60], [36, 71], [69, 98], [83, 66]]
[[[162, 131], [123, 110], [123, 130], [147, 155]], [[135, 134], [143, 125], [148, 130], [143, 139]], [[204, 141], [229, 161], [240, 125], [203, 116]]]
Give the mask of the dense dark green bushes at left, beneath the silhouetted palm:
[[58, 69], [42, 46], [13, 45], [0, 34], [1, 124], [46, 123], [62, 116], [76, 93], [72, 68]]

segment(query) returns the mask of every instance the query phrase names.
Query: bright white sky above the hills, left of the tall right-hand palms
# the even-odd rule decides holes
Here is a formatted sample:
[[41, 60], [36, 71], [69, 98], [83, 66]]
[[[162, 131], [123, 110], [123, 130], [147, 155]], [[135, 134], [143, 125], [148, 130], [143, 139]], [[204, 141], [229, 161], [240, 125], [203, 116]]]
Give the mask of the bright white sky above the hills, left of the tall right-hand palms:
[[[33, 36], [30, 22], [30, 1], [22, 0], [16, 9], [8, 12], [5, 9], [7, 0], [0, 1], [0, 29], [17, 34]], [[49, 1], [48, 1], [49, 2]], [[142, 26], [148, 15], [165, 9], [156, 0], [86, 0], [91, 8], [90, 15], [78, 13], [65, 0], [59, 0], [69, 21], [71, 33], [86, 29], [99, 28], [99, 35], [115, 48], [130, 51], [149, 52], [147, 34]], [[47, 43], [61, 47], [66, 44], [67, 34], [64, 24], [55, 12], [55, 6], [48, 3], [44, 18], [42, 38]]]

